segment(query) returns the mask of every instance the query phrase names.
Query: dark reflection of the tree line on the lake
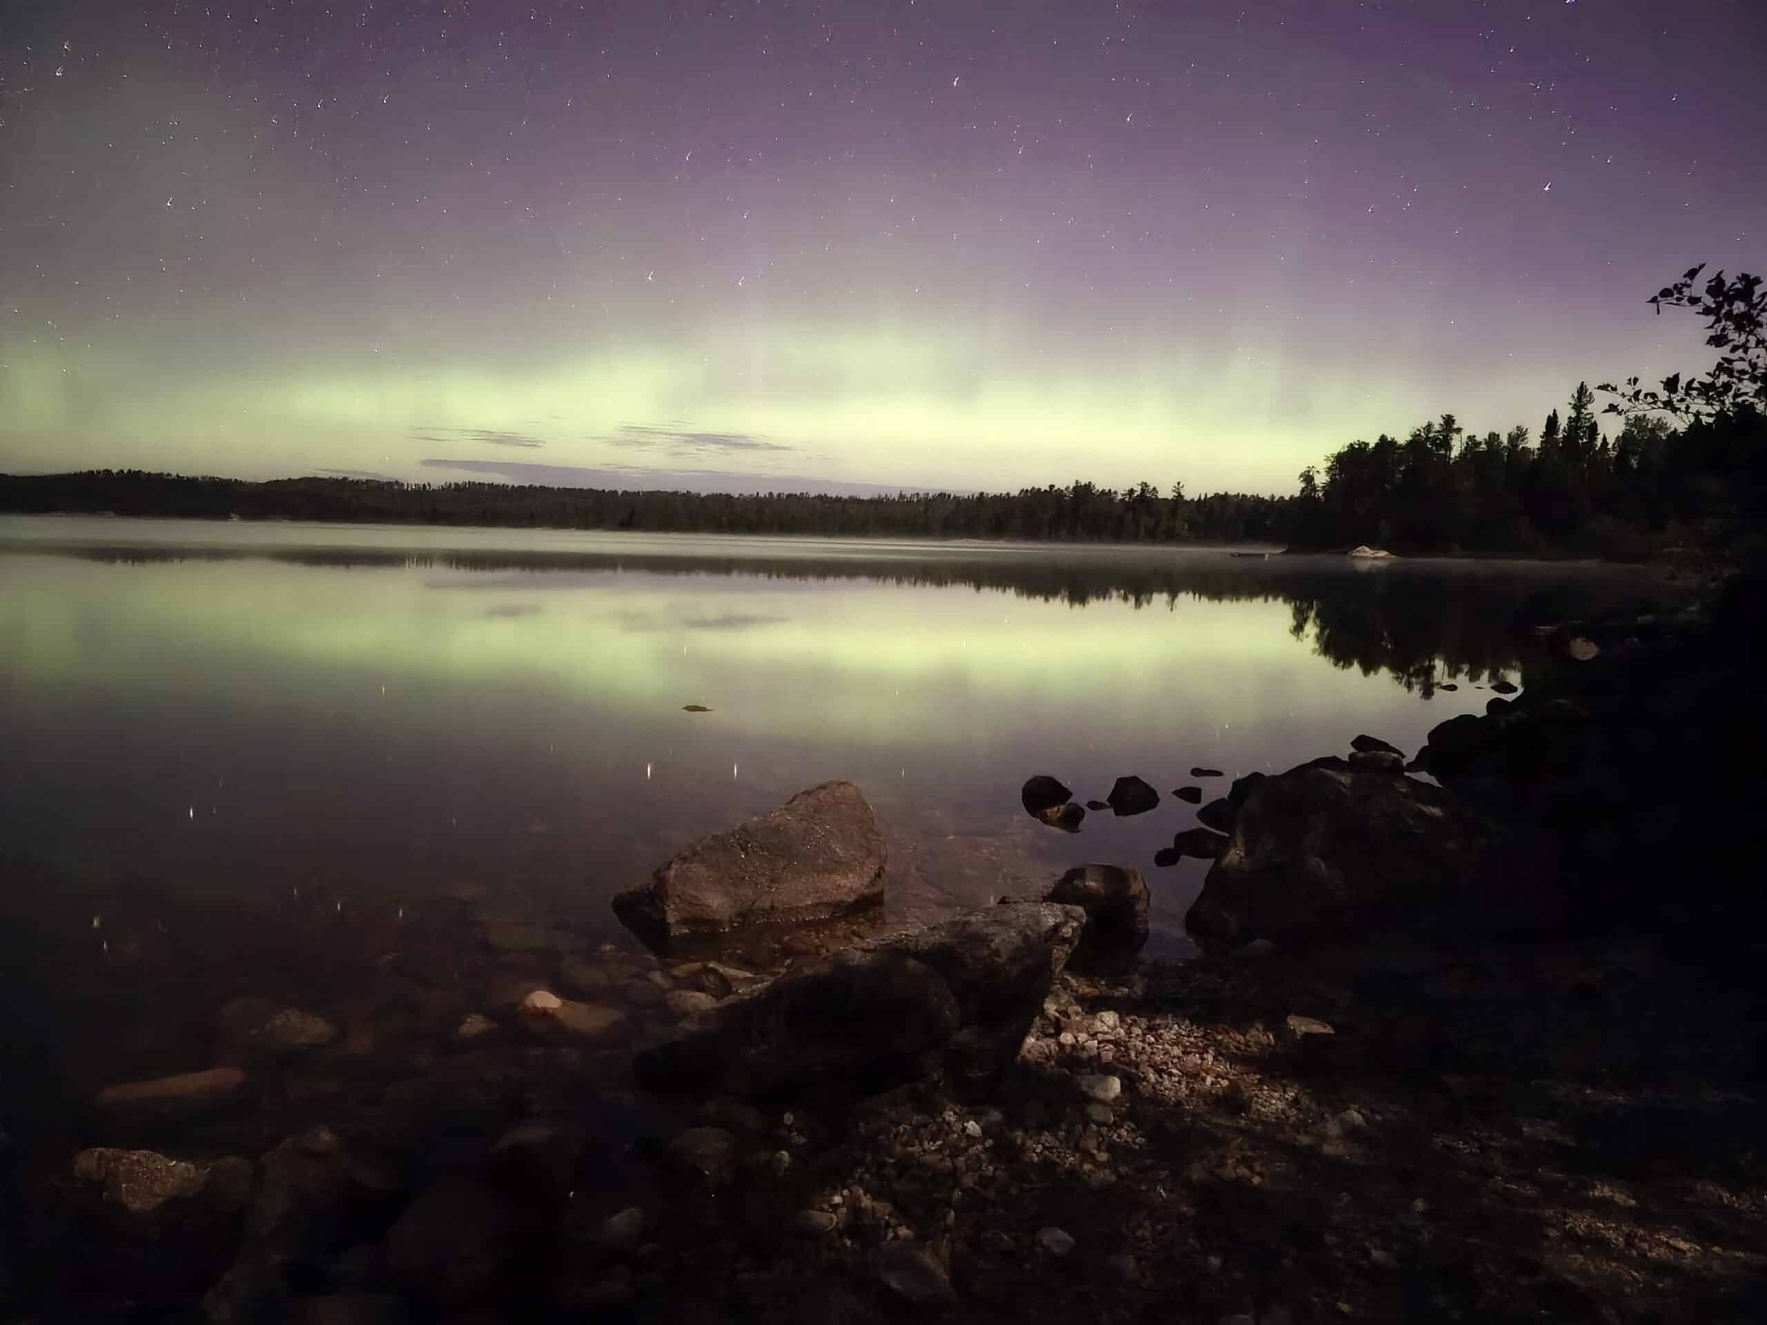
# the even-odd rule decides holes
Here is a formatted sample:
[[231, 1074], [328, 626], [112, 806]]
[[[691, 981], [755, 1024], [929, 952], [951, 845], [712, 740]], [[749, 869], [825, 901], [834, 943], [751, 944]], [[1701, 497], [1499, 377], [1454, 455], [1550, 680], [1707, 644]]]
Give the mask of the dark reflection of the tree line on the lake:
[[[120, 565], [269, 558], [311, 567], [405, 571], [629, 572], [749, 576], [758, 579], [868, 579], [899, 587], [974, 588], [1085, 608], [1122, 602], [1177, 610], [1203, 602], [1286, 602], [1290, 632], [1339, 668], [1389, 673], [1405, 689], [1433, 693], [1445, 680], [1486, 682], [1523, 666], [1534, 622], [1620, 610], [1652, 610], [1613, 569], [1490, 562], [1387, 562], [1355, 567], [1338, 558], [1230, 558], [1207, 553], [963, 556], [671, 556], [573, 551], [413, 551], [394, 548], [58, 548], [64, 555]], [[470, 585], [463, 585], [470, 587]]]

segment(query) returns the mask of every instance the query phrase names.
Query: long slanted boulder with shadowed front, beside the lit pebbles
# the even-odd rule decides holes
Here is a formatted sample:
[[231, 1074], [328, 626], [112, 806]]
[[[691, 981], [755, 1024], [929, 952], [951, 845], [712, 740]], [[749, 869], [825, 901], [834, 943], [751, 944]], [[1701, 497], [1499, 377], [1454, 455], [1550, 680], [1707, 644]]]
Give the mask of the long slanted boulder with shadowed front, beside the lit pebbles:
[[995, 906], [820, 958], [641, 1051], [638, 1076], [739, 1097], [862, 1094], [940, 1071], [986, 1083], [1018, 1055], [1083, 924], [1076, 906]]

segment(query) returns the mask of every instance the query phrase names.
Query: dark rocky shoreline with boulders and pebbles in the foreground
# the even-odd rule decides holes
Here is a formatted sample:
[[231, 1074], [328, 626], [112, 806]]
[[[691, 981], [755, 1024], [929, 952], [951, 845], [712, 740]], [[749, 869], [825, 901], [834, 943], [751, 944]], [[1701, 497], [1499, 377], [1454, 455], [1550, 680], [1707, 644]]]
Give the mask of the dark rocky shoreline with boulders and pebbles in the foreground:
[[9, 1104], [0, 1320], [1760, 1320], [1760, 899], [1723, 873], [1758, 604], [1543, 634], [1546, 675], [1431, 733], [1440, 788], [1376, 738], [1240, 779], [1173, 848], [1214, 860], [1187, 963], [1136, 959], [1115, 866], [832, 950], [772, 926], [774, 965], [668, 952], [730, 922], [719, 860], [746, 906], [862, 913], [845, 784], [624, 901], [663, 956], [470, 903], [341, 952], [320, 906], [258, 935], [300, 982], [251, 989], [249, 929], [196, 970], [94, 915], [110, 986], [21, 954], [30, 1012], [138, 1023]]

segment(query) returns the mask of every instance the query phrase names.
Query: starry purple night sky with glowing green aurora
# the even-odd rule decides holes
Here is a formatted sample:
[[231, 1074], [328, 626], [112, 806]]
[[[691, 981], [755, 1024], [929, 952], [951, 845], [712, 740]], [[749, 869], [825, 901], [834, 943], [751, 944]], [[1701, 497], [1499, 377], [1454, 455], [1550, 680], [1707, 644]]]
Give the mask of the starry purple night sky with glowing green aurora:
[[1703, 367], [1767, 4], [0, 4], [0, 468], [1292, 491]]

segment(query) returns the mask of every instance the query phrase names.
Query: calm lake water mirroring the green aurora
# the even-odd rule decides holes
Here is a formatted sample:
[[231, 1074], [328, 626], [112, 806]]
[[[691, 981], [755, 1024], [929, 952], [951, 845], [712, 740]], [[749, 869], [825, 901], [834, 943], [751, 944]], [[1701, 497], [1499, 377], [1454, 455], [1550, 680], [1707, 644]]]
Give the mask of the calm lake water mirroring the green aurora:
[[[1518, 615], [1634, 572], [1207, 548], [0, 519], [0, 848], [131, 896], [489, 897], [620, 938], [608, 899], [830, 777], [891, 906], [1138, 866], [1184, 954], [1170, 791], [1415, 751], [1523, 682]], [[710, 712], [686, 712], [703, 705]], [[1147, 814], [1030, 820], [1138, 774]]]

